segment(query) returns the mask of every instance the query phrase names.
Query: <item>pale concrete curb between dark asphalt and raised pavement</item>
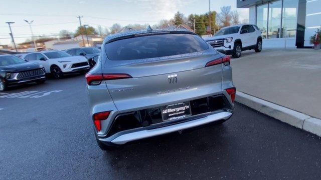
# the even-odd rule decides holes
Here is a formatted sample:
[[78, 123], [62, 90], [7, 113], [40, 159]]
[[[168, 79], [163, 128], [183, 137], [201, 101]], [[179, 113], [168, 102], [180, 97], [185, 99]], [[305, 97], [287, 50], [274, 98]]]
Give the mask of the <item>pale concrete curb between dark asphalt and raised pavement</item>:
[[268, 116], [281, 120], [282, 122], [321, 136], [321, 119], [311, 117], [304, 113], [240, 91], [236, 91], [235, 100]]

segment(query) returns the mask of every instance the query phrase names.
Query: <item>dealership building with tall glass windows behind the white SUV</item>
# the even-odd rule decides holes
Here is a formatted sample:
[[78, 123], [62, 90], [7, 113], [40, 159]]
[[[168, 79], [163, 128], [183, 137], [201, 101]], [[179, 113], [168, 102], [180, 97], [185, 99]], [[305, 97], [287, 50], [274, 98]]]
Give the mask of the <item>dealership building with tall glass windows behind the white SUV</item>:
[[237, 0], [249, 8], [249, 23], [263, 34], [263, 47], [311, 47], [321, 27], [321, 0]]

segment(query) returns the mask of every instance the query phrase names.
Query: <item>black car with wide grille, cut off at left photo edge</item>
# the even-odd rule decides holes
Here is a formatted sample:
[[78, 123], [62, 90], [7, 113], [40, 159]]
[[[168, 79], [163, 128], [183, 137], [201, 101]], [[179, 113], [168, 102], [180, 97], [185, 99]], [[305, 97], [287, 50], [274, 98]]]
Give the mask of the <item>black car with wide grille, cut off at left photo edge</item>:
[[45, 68], [15, 55], [0, 55], [0, 91], [10, 85], [46, 81]]

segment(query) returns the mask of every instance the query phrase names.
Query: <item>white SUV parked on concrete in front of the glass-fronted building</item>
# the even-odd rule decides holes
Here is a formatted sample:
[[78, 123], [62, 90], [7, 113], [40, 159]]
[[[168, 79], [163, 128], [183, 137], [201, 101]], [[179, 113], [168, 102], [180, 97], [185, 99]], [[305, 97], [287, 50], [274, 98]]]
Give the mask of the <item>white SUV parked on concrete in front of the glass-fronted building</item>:
[[235, 58], [240, 57], [243, 50], [262, 50], [262, 32], [254, 24], [227, 26], [204, 39], [216, 50]]

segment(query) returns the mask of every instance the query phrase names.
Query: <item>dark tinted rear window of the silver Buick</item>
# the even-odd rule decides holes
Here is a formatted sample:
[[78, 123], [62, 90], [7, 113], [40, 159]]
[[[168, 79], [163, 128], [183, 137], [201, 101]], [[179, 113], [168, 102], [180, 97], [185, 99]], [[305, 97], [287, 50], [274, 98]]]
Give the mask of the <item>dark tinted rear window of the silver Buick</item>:
[[209, 46], [194, 34], [158, 34], [132, 37], [105, 45], [111, 60], [131, 60], [193, 53]]

